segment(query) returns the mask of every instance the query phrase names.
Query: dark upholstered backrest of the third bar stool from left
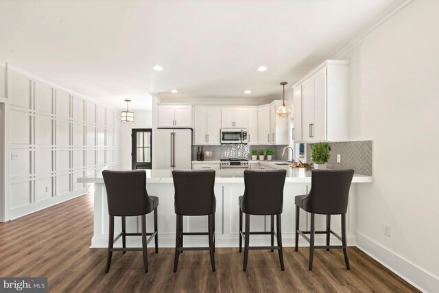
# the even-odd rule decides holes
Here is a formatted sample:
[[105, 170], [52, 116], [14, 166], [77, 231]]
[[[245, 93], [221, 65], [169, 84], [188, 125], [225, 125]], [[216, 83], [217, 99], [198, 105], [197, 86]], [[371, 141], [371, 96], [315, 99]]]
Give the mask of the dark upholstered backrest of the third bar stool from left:
[[245, 170], [241, 209], [251, 215], [276, 215], [283, 209], [283, 187], [287, 171]]

